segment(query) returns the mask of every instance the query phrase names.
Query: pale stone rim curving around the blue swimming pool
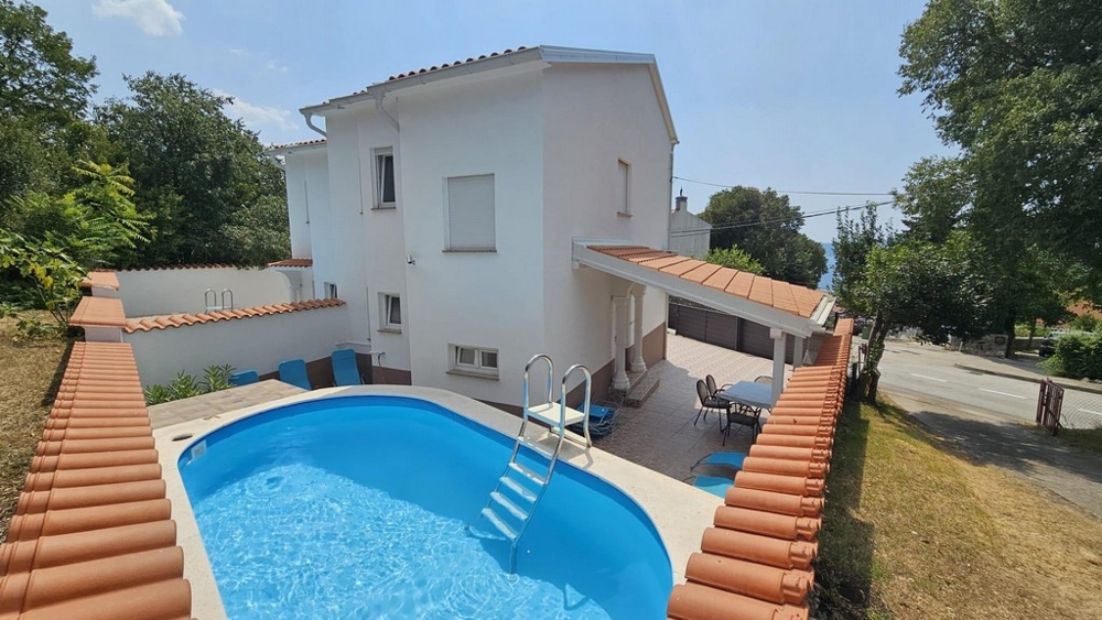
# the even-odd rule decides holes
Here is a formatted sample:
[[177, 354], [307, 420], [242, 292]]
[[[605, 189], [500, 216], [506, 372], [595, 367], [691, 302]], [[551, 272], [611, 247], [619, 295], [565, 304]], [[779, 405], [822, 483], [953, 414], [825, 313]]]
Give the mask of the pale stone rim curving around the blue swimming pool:
[[[287, 393], [283, 384], [277, 381], [264, 381], [257, 385], [263, 387], [264, 383], [273, 385], [267, 385], [264, 389], [249, 387], [252, 389], [249, 400], [263, 399], [268, 389], [273, 390], [273, 395]], [[515, 437], [520, 427], [519, 417], [454, 392], [410, 385], [359, 385], [302, 392], [276, 400], [264, 400], [262, 403], [229, 412], [219, 412], [215, 407], [205, 409], [205, 412], [193, 409], [190, 415], [202, 415], [202, 417], [154, 428], [153, 438], [166, 482], [166, 497], [172, 502], [172, 519], [177, 524], [177, 544], [184, 550], [184, 577], [192, 585], [192, 614], [196, 620], [220, 620], [226, 618], [226, 613], [222, 606], [222, 598], [218, 595], [198, 525], [192, 513], [191, 502], [176, 467], [184, 449], [192, 445], [197, 437], [273, 407], [326, 396], [354, 394], [401, 395], [422, 399], [509, 437]], [[227, 398], [230, 398], [230, 401], [227, 402], [240, 402], [237, 396]], [[151, 417], [154, 421], [162, 417], [159, 413], [161, 412], [153, 407]], [[154, 422], [154, 425], [156, 426], [158, 423]], [[714, 428], [711, 433], [719, 435]], [[545, 429], [540, 427], [529, 432], [529, 437], [532, 439], [538, 440], [545, 436]], [[184, 438], [173, 440], [174, 437]], [[700, 532], [712, 524], [715, 509], [722, 505], [722, 500], [596, 446], [585, 450], [581, 446], [568, 442], [563, 445], [560, 458], [579, 469], [598, 476], [635, 500], [650, 516], [666, 545], [673, 570], [674, 585], [684, 583], [683, 567], [690, 555], [698, 550]]]

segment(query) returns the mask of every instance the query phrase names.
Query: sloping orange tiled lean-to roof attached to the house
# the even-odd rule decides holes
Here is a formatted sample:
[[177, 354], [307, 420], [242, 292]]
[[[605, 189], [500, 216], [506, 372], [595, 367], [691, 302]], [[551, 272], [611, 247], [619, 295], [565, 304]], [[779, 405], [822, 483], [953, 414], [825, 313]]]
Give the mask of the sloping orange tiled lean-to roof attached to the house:
[[821, 291], [798, 284], [642, 246], [590, 246], [590, 249], [803, 318], [811, 318], [825, 296]]

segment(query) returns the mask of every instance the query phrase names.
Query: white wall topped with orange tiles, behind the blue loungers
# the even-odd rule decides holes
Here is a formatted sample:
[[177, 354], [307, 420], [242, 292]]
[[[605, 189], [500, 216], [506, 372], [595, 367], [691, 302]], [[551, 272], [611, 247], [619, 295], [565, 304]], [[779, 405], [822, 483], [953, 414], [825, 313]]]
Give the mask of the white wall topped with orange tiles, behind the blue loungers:
[[346, 326], [346, 306], [337, 306], [136, 331], [122, 341], [133, 347], [142, 385], [151, 385], [180, 371], [199, 379], [213, 365], [264, 374], [285, 359], [321, 359], [345, 341]]

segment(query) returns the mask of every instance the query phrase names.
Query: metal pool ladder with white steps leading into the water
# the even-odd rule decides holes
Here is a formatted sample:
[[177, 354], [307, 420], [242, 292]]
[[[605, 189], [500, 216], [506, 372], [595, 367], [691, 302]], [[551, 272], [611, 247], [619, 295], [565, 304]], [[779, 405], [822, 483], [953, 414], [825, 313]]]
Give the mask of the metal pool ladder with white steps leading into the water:
[[[543, 360], [548, 367], [547, 400], [542, 404], [531, 405], [529, 401], [529, 380], [532, 365]], [[585, 378], [585, 399], [582, 401], [582, 410], [566, 406], [566, 382], [575, 371], [581, 371]], [[521, 411], [520, 431], [517, 433], [517, 440], [512, 445], [512, 454], [509, 456], [509, 464], [505, 467], [505, 472], [497, 480], [497, 486], [489, 493], [489, 502], [483, 509], [482, 515], [486, 518], [495, 530], [500, 532], [509, 541], [509, 572], [517, 572], [517, 543], [525, 534], [525, 529], [536, 512], [536, 507], [543, 498], [547, 487], [551, 483], [551, 474], [554, 471], [555, 463], [559, 461], [559, 453], [562, 444], [566, 439], [584, 444], [586, 448], [593, 445], [590, 438], [590, 394], [592, 388], [592, 377], [590, 370], [576, 363], [566, 370], [562, 377], [562, 390], [559, 393], [559, 402], [555, 403], [554, 395], [554, 363], [545, 355], [537, 355], [528, 360], [525, 366], [525, 405]], [[536, 420], [548, 425], [548, 432], [557, 436], [554, 449], [549, 450], [540, 442], [532, 440], [525, 436], [528, 429], [528, 422]], [[569, 431], [566, 427], [581, 423], [582, 435]], [[533, 467], [519, 461], [520, 448], [526, 447], [537, 456], [528, 458], [527, 461]], [[537, 465], [545, 463], [545, 465]], [[542, 471], [541, 471], [542, 470]]]

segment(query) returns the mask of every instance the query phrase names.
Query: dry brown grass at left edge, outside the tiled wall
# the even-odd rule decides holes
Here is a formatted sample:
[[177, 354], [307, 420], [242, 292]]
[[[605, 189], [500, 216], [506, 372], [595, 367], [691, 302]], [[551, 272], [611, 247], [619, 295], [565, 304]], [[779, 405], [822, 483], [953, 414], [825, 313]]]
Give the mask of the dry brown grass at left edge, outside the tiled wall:
[[0, 319], [0, 541], [8, 534], [71, 342], [14, 337], [15, 320]]

